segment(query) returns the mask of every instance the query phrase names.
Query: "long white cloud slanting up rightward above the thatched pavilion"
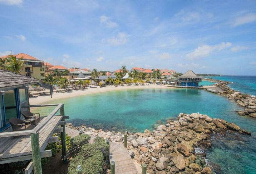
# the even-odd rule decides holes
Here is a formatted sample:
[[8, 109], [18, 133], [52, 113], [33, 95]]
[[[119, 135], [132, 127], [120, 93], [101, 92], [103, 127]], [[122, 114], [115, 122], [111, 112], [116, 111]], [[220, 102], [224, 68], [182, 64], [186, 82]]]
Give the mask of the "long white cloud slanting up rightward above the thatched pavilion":
[[202, 45], [196, 48], [192, 53], [186, 54], [186, 58], [188, 59], [198, 59], [201, 57], [207, 57], [212, 52], [217, 52], [227, 47], [230, 47], [232, 43], [230, 42], [222, 42], [216, 45]]

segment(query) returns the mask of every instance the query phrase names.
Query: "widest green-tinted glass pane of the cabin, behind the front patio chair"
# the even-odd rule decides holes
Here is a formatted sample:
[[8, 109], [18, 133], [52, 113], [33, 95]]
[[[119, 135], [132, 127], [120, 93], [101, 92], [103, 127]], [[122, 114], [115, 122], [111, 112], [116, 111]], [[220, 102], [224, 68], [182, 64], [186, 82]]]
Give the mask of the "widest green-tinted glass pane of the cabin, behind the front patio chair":
[[5, 122], [9, 123], [9, 119], [17, 117], [17, 106], [14, 90], [5, 91], [4, 95]]

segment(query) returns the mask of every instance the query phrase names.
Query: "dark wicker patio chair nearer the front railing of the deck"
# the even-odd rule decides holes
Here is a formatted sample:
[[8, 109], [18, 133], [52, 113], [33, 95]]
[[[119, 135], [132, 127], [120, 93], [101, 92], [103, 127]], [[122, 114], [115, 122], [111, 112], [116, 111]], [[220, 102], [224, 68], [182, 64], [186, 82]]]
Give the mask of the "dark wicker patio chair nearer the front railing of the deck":
[[[30, 120], [21, 120], [17, 117], [12, 117], [8, 120], [12, 126], [12, 131], [26, 131], [32, 129], [32, 124]], [[26, 122], [30, 124], [25, 124]]]

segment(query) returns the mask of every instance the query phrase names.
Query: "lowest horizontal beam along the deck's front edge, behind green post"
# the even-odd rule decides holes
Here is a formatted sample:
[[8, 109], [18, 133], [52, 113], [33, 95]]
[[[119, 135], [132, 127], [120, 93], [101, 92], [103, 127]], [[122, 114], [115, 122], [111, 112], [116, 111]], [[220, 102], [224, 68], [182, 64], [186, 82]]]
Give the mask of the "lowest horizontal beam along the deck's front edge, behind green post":
[[[51, 149], [41, 151], [41, 158], [51, 157], [51, 156], [52, 156]], [[17, 162], [17, 161], [25, 161], [25, 160], [31, 160], [31, 159], [32, 159], [32, 154], [24, 155], [24, 156], [17, 156], [17, 157], [13, 157], [13, 158], [1, 158], [0, 164], [12, 163], [12, 162]]]

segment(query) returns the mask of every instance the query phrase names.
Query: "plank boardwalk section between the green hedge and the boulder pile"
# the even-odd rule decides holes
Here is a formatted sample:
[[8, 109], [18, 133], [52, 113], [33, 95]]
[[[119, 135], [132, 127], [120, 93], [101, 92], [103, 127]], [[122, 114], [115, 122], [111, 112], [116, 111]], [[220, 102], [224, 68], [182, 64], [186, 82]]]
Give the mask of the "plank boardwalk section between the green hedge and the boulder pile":
[[139, 174], [128, 150], [121, 144], [110, 142], [109, 160], [115, 161], [116, 174]]

